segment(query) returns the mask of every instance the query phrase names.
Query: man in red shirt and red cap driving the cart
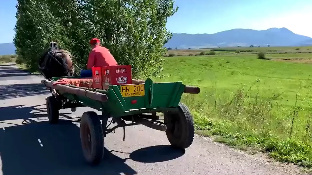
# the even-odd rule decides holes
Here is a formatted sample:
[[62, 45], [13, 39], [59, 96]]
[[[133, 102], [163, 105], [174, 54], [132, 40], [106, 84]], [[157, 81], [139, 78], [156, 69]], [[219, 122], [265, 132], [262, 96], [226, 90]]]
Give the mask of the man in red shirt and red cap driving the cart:
[[103, 46], [100, 46], [99, 39], [91, 39], [90, 45], [92, 50], [89, 54], [87, 69], [92, 69], [92, 67], [118, 65], [113, 55], [110, 54], [110, 50]]

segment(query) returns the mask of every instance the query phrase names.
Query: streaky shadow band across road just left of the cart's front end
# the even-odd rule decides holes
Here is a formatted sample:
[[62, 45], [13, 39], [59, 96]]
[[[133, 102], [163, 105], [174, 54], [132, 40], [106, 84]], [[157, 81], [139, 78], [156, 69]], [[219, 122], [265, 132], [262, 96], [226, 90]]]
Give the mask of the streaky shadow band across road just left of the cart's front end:
[[0, 85], [0, 100], [49, 93], [50, 91], [42, 84]]

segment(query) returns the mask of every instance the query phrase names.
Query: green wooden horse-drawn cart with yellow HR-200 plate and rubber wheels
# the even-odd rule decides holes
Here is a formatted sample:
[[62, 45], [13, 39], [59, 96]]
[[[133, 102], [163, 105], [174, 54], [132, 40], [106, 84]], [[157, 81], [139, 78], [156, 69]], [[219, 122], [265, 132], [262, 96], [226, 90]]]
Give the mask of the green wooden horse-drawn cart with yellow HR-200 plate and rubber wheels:
[[[102, 112], [99, 116], [94, 111], [88, 111], [81, 117], [82, 150], [85, 159], [91, 164], [100, 163], [104, 155], [104, 138], [118, 127], [142, 124], [165, 131], [170, 144], [178, 149], [188, 148], [193, 142], [193, 116], [188, 107], [180, 103], [180, 99], [183, 92], [199, 93], [198, 87], [185, 86], [182, 82], [155, 83], [150, 78], [146, 81], [133, 80], [133, 84], [110, 85], [107, 90], [53, 85], [60, 78], [80, 77], [55, 77], [51, 81], [41, 81], [53, 89], [52, 96], [46, 99], [51, 124], [58, 122], [61, 108], [88, 106]], [[163, 113], [163, 122], [158, 120], [158, 112]], [[117, 125], [108, 128], [109, 118]]]

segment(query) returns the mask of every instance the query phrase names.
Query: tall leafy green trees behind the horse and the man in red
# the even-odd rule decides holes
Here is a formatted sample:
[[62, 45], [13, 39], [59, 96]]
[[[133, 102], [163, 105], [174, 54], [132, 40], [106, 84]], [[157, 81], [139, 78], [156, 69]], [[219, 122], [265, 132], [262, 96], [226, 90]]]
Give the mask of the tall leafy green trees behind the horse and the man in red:
[[[28, 68], [50, 41], [71, 52], [82, 69], [91, 50], [91, 38], [99, 38], [120, 65], [130, 64], [133, 76], [156, 76], [162, 70], [172, 33], [165, 28], [167, 18], [178, 7], [174, 0], [139, 1], [48, 1], [18, 0], [14, 44]], [[148, 13], [147, 13], [148, 12]]]

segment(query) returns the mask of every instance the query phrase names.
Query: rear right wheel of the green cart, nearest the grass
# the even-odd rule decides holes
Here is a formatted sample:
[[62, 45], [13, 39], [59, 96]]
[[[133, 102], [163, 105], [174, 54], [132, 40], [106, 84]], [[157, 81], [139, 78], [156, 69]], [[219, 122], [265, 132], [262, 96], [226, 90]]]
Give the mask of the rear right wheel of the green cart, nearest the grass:
[[170, 144], [178, 149], [188, 148], [194, 140], [194, 120], [188, 107], [179, 103], [178, 111], [164, 112], [166, 135]]

